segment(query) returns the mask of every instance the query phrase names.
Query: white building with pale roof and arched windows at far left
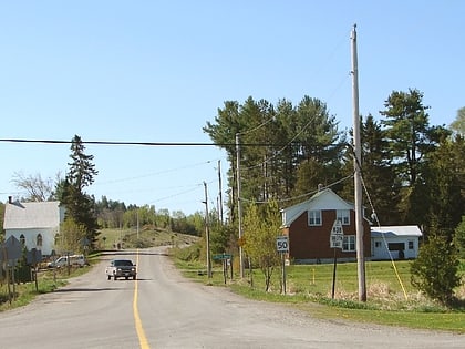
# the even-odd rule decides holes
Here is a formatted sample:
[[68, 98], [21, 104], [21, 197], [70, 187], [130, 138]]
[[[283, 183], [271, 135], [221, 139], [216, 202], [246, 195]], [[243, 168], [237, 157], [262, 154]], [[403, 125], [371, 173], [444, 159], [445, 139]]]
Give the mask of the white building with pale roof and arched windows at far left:
[[42, 256], [51, 255], [64, 207], [60, 202], [19, 203], [9, 199], [4, 207], [4, 238], [14, 236], [29, 250], [35, 248]]

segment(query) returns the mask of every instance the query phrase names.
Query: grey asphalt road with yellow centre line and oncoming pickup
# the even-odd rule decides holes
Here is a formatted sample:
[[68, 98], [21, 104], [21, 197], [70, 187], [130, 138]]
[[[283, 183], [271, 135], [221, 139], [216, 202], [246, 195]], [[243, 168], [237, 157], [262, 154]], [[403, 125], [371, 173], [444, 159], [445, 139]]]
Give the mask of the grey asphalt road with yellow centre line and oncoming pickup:
[[[111, 258], [137, 280], [107, 280]], [[251, 301], [184, 279], [159, 248], [107, 255], [27, 307], [0, 312], [0, 348], [465, 348], [465, 336], [343, 320]]]

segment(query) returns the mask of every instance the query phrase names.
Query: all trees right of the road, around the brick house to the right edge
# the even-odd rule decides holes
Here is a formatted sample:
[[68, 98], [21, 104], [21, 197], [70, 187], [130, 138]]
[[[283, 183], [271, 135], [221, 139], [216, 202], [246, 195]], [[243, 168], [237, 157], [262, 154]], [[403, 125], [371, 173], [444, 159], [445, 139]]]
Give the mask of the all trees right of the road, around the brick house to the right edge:
[[[363, 202], [374, 225], [422, 228], [426, 244], [412, 266], [412, 284], [450, 302], [461, 283], [458, 254], [465, 257], [465, 107], [450, 126], [431, 125], [428, 109], [423, 93], [410, 89], [388, 96], [380, 121], [360, 115]], [[246, 238], [239, 244], [266, 280], [277, 265], [275, 247], [264, 243], [279, 234], [277, 207], [309, 198], [319, 185], [353, 201], [352, 130], [339, 130], [318, 99], [304, 96], [297, 105], [251, 96], [242, 104], [227, 101], [204, 132], [231, 164], [228, 206], [236, 224], [240, 152]]]

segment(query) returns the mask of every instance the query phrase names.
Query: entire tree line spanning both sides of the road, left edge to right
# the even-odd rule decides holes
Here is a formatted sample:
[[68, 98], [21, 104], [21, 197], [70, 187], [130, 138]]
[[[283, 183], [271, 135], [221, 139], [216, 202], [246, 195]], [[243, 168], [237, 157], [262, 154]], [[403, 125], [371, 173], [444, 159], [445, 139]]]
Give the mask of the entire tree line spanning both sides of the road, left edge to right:
[[[371, 114], [360, 115], [365, 216], [380, 225], [418, 225], [426, 239], [438, 242], [438, 250], [446, 248], [445, 256], [453, 256], [450, 246], [464, 254], [465, 107], [448, 126], [431, 125], [428, 109], [423, 104], [423, 93], [410, 89], [393, 91], [388, 96], [384, 109], [379, 111], [379, 121]], [[353, 199], [352, 131], [340, 130], [335, 116], [318, 99], [303, 96], [296, 105], [286, 99], [273, 105], [251, 96], [241, 104], [226, 101], [214, 122], [207, 122], [203, 131], [226, 151], [230, 163], [226, 203], [229, 216], [224, 224], [210, 212], [211, 252], [235, 252], [241, 244], [255, 256], [266, 277], [275, 261], [256, 248], [264, 246], [264, 238], [257, 235], [257, 242], [240, 242], [237, 236], [238, 152], [246, 230], [276, 236], [277, 211], [307, 199], [320, 185]], [[193, 235], [205, 232], [205, 217], [200, 213], [186, 217], [182, 212], [155, 212], [148, 205], [126, 207], [105, 196], [95, 201], [85, 193], [85, 187], [93, 183], [97, 171], [93, 156], [84, 150], [76, 135], [71, 146], [70, 171], [53, 189], [40, 176], [16, 178], [18, 186], [30, 189], [31, 199], [54, 197], [66, 205], [69, 227], [62, 229], [63, 236], [78, 232], [71, 240], [85, 239], [92, 248], [101, 227], [149, 224]], [[37, 186], [48, 188], [50, 195]], [[453, 259], [448, 261], [455, 264]]]

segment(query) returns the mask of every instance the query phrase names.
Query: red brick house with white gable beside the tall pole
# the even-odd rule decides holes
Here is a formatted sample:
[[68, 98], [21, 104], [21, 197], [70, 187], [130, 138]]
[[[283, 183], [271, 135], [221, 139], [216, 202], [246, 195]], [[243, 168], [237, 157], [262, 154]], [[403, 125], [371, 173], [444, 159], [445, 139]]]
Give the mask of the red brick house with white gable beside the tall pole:
[[[293, 264], [332, 263], [334, 248], [330, 246], [333, 224], [342, 224], [342, 248], [335, 248], [340, 261], [356, 260], [355, 211], [333, 191], [319, 191], [308, 201], [281, 209], [283, 235], [289, 237], [289, 259]], [[371, 257], [370, 224], [363, 219], [365, 258]]]

